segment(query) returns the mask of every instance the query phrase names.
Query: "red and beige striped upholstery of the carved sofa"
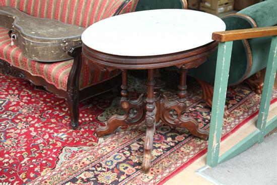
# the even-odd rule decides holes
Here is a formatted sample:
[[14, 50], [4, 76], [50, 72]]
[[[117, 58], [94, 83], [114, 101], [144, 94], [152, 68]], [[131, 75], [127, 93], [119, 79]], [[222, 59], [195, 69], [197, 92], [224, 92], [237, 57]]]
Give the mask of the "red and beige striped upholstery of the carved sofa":
[[[0, 0], [0, 6], [11, 6], [34, 16], [56, 19], [67, 24], [88, 27], [102, 19], [111, 17], [125, 0]], [[131, 0], [120, 14], [133, 12], [138, 0]], [[0, 27], [0, 58], [11, 65], [29, 72], [33, 76], [44, 78], [56, 88], [65, 90], [73, 60], [56, 63], [41, 63], [27, 59], [17, 46], [11, 46], [6, 28]], [[110, 79], [120, 73], [119, 70], [101, 72], [92, 69], [83, 58], [80, 89]]]

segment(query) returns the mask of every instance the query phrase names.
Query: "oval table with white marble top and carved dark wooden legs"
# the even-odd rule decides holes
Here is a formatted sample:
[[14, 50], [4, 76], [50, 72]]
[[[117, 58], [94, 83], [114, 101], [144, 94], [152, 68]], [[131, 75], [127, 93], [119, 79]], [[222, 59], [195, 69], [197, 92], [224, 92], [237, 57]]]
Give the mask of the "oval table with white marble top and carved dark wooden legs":
[[[186, 110], [186, 73], [202, 64], [217, 48], [212, 33], [224, 31], [224, 22], [211, 14], [179, 9], [150, 10], [123, 14], [99, 21], [83, 35], [83, 54], [94, 67], [103, 71], [122, 70], [121, 108], [97, 135], [112, 133], [117, 127], [145, 120], [147, 127], [143, 171], [150, 168], [156, 122], [187, 128], [196, 137], [206, 139], [209, 132], [182, 112]], [[178, 99], [154, 92], [155, 69], [176, 66], [180, 69]], [[127, 70], [148, 70], [147, 95], [129, 100]]]

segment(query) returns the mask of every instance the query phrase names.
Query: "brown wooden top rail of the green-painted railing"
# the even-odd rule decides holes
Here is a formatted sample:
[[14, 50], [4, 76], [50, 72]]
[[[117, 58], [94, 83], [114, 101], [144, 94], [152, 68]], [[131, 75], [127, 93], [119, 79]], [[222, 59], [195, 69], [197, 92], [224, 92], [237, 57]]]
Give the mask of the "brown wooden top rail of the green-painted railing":
[[214, 32], [212, 39], [220, 42], [277, 35], [277, 26]]

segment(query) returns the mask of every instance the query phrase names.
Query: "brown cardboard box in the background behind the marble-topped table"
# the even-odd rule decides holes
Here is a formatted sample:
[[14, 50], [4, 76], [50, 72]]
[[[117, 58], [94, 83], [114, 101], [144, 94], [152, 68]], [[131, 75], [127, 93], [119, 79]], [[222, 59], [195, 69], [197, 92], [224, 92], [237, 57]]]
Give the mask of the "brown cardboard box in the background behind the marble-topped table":
[[[221, 0], [223, 2], [223, 0]], [[212, 7], [212, 6], [211, 6]], [[217, 5], [216, 8], [207, 8], [206, 4], [200, 4], [200, 10], [210, 14], [220, 14], [223, 12], [229, 12], [234, 9], [234, 0], [228, 0], [228, 3]]]

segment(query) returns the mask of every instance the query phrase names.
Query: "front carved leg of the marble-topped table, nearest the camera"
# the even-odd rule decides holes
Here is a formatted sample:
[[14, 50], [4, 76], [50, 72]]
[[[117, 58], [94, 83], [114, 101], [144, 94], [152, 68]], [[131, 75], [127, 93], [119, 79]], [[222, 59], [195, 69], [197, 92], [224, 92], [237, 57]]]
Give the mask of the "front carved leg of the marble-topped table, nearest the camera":
[[146, 98], [146, 137], [144, 145], [144, 158], [143, 158], [143, 172], [148, 173], [150, 169], [150, 163], [152, 159], [152, 149], [153, 149], [153, 135], [156, 127], [156, 103], [154, 97], [154, 70], [148, 70], [148, 81], [147, 81], [147, 98]]

